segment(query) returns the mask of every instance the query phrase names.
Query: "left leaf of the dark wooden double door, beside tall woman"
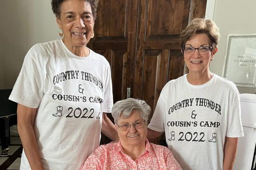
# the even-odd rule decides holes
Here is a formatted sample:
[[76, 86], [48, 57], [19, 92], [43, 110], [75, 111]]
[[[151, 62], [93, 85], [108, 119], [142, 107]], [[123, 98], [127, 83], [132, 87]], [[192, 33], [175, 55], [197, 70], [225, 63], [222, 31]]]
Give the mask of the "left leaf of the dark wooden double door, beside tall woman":
[[[114, 103], [127, 98], [127, 87], [133, 89], [136, 6], [134, 0], [99, 0], [92, 48], [111, 65]], [[108, 142], [102, 135], [101, 143]]]

